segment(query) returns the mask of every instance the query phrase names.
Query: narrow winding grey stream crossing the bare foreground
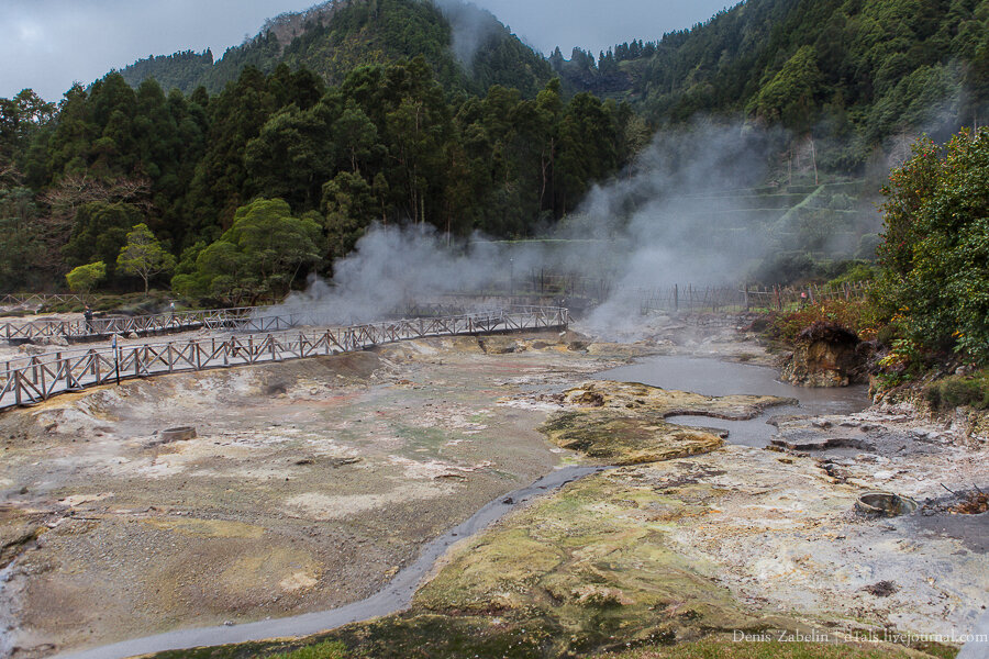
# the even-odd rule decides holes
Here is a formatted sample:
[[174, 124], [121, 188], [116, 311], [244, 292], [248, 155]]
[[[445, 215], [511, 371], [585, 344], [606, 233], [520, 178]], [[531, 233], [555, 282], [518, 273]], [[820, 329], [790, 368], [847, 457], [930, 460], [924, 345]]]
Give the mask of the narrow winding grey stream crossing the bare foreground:
[[354, 602], [332, 611], [307, 613], [244, 625], [168, 632], [90, 650], [57, 655], [55, 659], [124, 659], [135, 655], [147, 655], [166, 650], [247, 643], [268, 638], [302, 637], [402, 611], [411, 604], [412, 595], [419, 588], [422, 578], [430, 572], [433, 565], [454, 543], [484, 530], [513, 509], [525, 505], [537, 496], [558, 490], [567, 483], [605, 469], [608, 468], [564, 467], [541, 478], [531, 485], [499, 496], [476, 512], [469, 520], [426, 545], [414, 563], [401, 570], [378, 593], [360, 602]]

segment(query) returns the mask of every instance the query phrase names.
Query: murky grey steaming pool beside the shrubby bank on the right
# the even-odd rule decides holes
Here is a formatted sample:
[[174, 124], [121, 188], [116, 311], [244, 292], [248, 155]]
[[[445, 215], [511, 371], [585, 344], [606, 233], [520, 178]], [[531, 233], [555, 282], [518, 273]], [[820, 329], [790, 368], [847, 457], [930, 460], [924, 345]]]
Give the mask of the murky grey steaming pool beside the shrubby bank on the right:
[[721, 361], [711, 357], [656, 356], [593, 376], [598, 380], [640, 382], [662, 389], [691, 391], [702, 395], [777, 395], [800, 401], [799, 405], [769, 407], [748, 421], [725, 421], [705, 416], [668, 416], [666, 421], [692, 427], [714, 427], [729, 432], [727, 442], [763, 447], [769, 444], [774, 427], [769, 417], [785, 414], [853, 414], [869, 405], [865, 384], [833, 389], [793, 387], [780, 382], [776, 369], [751, 364]]

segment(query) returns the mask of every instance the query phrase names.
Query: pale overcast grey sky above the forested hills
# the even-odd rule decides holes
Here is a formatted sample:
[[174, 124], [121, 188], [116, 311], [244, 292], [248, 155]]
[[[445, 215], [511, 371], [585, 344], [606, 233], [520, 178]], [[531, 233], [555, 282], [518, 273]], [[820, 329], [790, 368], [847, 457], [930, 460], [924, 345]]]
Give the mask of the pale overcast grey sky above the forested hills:
[[[0, 97], [31, 87], [56, 101], [78, 80], [148, 55], [213, 49], [218, 58], [265, 19], [316, 0], [0, 0]], [[526, 43], [593, 53], [655, 40], [724, 8], [725, 0], [475, 0]]]

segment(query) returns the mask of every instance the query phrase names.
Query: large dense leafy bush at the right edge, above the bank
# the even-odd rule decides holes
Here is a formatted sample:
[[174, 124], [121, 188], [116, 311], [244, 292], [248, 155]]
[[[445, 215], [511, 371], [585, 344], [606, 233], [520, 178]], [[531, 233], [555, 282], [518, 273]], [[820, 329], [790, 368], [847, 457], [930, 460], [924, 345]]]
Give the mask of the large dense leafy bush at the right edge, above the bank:
[[989, 130], [921, 139], [885, 194], [880, 301], [918, 346], [989, 362]]

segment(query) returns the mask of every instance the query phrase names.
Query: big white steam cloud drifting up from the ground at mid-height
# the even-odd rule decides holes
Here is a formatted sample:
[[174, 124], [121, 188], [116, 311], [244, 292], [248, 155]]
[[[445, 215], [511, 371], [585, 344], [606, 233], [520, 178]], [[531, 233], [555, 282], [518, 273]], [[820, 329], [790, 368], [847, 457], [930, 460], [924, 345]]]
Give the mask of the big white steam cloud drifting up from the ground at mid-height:
[[644, 288], [737, 283], [765, 256], [762, 230], [771, 220], [744, 208], [742, 189], [765, 180], [778, 145], [779, 135], [742, 124], [659, 133], [630, 171], [593, 188], [542, 242], [476, 235], [448, 247], [429, 227], [375, 225], [335, 264], [332, 282], [314, 281], [285, 310], [318, 310], [338, 323], [381, 320], [453, 292], [518, 293], [523, 279], [545, 269], [607, 277], [611, 294], [588, 322], [618, 328], [638, 315]]

